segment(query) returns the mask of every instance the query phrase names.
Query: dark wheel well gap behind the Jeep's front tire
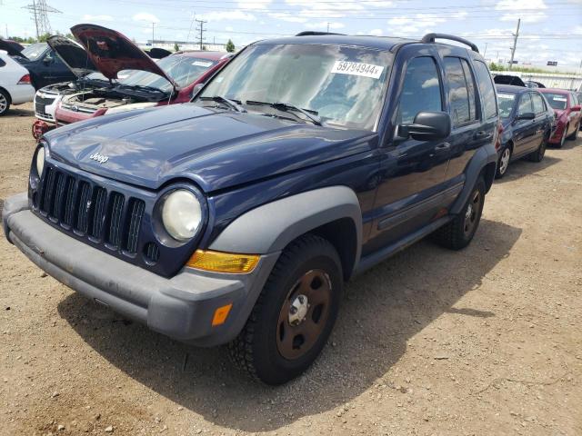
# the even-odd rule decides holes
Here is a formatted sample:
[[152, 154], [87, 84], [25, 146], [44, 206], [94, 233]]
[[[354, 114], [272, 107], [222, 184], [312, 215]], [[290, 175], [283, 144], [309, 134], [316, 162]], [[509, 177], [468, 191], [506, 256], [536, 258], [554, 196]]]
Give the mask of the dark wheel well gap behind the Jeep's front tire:
[[351, 218], [340, 218], [316, 227], [309, 233], [325, 238], [336, 248], [342, 263], [344, 280], [348, 280], [356, 263], [357, 234], [354, 221]]

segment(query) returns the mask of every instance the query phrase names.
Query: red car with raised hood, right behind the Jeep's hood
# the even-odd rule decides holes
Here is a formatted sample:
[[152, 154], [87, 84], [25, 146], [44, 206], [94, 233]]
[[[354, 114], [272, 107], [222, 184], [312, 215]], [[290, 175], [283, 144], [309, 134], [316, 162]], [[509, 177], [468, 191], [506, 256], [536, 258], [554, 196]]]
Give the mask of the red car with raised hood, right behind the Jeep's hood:
[[[75, 38], [113, 87], [66, 95], [57, 106], [58, 125], [103, 114], [185, 103], [230, 58], [219, 52], [177, 52], [155, 62], [125, 35], [98, 25], [75, 25]], [[120, 79], [120, 74], [127, 75]], [[118, 80], [119, 79], [119, 80]]]

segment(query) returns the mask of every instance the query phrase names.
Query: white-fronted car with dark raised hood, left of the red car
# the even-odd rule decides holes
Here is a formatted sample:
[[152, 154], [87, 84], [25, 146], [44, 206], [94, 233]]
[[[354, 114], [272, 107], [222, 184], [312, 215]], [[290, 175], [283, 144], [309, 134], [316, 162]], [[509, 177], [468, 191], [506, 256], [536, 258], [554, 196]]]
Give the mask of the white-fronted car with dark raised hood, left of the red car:
[[115, 84], [99, 73], [82, 45], [62, 35], [51, 36], [46, 43], [71, 73], [75, 74], [76, 80], [49, 84], [36, 92], [36, 120], [33, 124], [33, 136], [36, 139], [55, 127], [55, 110], [65, 95], [79, 94], [95, 88], [109, 88]]

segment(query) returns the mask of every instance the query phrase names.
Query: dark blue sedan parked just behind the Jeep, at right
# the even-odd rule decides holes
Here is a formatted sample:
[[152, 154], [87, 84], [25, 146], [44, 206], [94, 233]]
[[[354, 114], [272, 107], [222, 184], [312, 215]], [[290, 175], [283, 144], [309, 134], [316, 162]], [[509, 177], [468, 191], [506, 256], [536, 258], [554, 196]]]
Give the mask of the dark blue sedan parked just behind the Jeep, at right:
[[512, 161], [523, 157], [532, 162], [544, 159], [556, 116], [537, 88], [511, 84], [496, 87], [502, 124], [496, 176], [501, 178]]

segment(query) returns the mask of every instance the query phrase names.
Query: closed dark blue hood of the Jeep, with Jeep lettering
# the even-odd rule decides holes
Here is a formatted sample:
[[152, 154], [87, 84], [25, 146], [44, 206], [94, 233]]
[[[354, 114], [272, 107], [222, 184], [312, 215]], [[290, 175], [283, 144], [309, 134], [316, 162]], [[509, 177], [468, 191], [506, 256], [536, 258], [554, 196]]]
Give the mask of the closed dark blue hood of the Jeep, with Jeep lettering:
[[209, 193], [369, 151], [375, 135], [171, 104], [69, 124], [45, 138], [51, 158], [86, 172], [148, 189], [188, 178]]

